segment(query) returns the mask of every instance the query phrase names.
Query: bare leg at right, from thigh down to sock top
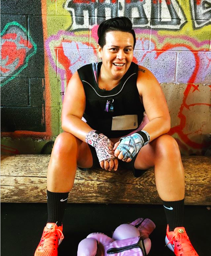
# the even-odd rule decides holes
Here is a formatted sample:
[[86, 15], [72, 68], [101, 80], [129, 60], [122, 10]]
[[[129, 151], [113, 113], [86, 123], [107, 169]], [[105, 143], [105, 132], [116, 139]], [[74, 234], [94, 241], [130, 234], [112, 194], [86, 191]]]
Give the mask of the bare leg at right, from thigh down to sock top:
[[135, 161], [136, 169], [155, 167], [157, 192], [163, 201], [177, 201], [185, 195], [185, 177], [177, 142], [165, 134], [144, 146]]

